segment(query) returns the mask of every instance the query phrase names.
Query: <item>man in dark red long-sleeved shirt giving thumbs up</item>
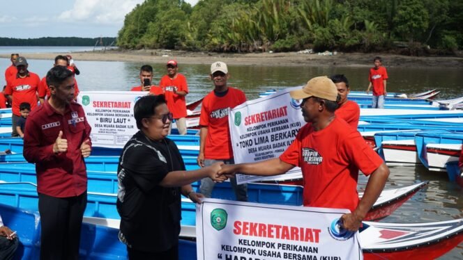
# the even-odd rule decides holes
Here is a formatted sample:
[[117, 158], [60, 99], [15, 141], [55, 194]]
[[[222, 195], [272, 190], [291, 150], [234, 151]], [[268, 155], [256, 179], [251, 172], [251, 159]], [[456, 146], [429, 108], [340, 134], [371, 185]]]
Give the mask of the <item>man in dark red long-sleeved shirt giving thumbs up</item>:
[[47, 84], [50, 99], [29, 115], [23, 151], [29, 163], [36, 163], [40, 259], [78, 259], [91, 127], [74, 101], [73, 72], [53, 67]]

